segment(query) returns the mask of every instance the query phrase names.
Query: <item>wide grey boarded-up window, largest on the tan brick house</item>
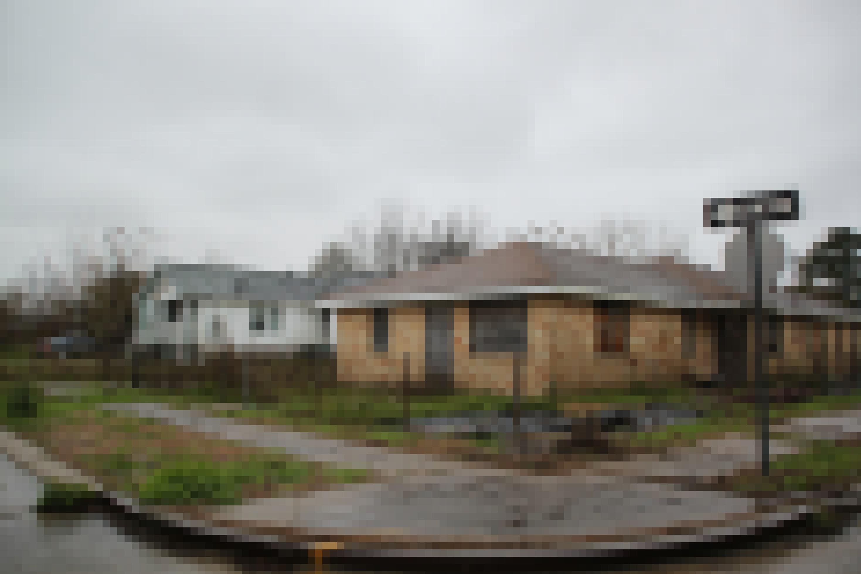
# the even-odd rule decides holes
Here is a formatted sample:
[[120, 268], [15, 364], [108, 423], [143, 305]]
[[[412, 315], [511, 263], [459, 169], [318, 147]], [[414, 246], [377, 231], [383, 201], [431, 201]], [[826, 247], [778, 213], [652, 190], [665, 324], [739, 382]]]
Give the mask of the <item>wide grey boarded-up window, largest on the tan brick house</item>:
[[469, 349], [478, 353], [525, 351], [528, 316], [526, 301], [474, 301], [469, 306]]

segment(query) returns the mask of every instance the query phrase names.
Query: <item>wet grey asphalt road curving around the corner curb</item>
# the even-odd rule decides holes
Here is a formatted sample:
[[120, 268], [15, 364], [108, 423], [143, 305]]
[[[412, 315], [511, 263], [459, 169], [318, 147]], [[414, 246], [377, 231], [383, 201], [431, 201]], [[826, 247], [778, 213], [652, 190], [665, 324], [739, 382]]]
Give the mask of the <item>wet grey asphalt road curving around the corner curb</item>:
[[[30, 574], [314, 571], [313, 565], [304, 560], [297, 564], [274, 555], [253, 555], [227, 548], [208, 539], [189, 540], [183, 534], [172, 531], [165, 534], [161, 529], [110, 513], [36, 515], [30, 506], [39, 492], [35, 478], [0, 457], [0, 571]], [[365, 564], [362, 568], [361, 572], [379, 571], [375, 565]], [[325, 570], [360, 572], [333, 566], [326, 566]], [[484, 570], [475, 566], [470, 571]], [[691, 555], [648, 559], [647, 563], [640, 559], [607, 564], [573, 562], [570, 571], [857, 574], [861, 571], [861, 523], [853, 519], [838, 534], [785, 534], [753, 548], [705, 548]]]

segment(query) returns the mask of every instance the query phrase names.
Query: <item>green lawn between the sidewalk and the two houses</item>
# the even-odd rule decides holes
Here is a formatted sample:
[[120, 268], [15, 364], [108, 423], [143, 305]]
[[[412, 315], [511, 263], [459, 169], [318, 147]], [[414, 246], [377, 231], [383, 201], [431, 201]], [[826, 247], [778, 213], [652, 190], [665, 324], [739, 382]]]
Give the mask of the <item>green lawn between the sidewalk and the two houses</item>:
[[[21, 355], [19, 352], [18, 355]], [[17, 357], [17, 358], [15, 358]], [[9, 355], [7, 360], [20, 357]], [[98, 409], [104, 402], [158, 401], [177, 408], [202, 406], [212, 408], [224, 398], [218, 396], [219, 386], [203, 383], [196, 389], [169, 391], [158, 388], [133, 389], [122, 385], [116, 389], [104, 388], [97, 381], [81, 384], [84, 392], [75, 398], [52, 398], [46, 405], [51, 416], [81, 409]], [[564, 388], [565, 386], [561, 386]], [[634, 447], [662, 448], [676, 444], [691, 444], [698, 438], [723, 432], [753, 432], [757, 420], [756, 405], [719, 397], [715, 393], [698, 391], [692, 386], [667, 384], [635, 384], [627, 388], [588, 388], [576, 392], [560, 391], [553, 398], [523, 398], [523, 410], [565, 410], [574, 404], [604, 404], [607, 406], [641, 407], [648, 403], [677, 404], [702, 410], [705, 416], [695, 423], [679, 424], [672, 429], [659, 429], [644, 433], [618, 433], [616, 440], [629, 441]], [[511, 397], [483, 392], [455, 392], [444, 396], [413, 396], [410, 416], [440, 417], [461, 411], [488, 411], [510, 409]], [[799, 404], [774, 404], [771, 420], [784, 417], [812, 415], [823, 410], [861, 407], [861, 392], [848, 397], [818, 396]], [[338, 387], [316, 392], [302, 386], [283, 392], [277, 403], [247, 404], [241, 408], [216, 410], [224, 417], [266, 419], [273, 423], [291, 425], [342, 438], [381, 441], [393, 446], [409, 445], [422, 438], [404, 432], [404, 407], [398, 392]], [[478, 439], [466, 440], [482, 445]], [[499, 442], [498, 437], [488, 439]]]

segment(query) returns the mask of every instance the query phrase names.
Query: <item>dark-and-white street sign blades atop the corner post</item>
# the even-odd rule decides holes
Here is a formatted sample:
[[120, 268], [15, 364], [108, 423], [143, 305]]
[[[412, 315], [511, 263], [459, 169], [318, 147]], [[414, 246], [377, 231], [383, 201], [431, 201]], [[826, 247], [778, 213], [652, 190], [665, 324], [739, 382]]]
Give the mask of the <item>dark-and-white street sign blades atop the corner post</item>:
[[715, 197], [705, 201], [706, 227], [744, 227], [753, 221], [798, 219], [796, 190], [760, 191], [747, 197]]

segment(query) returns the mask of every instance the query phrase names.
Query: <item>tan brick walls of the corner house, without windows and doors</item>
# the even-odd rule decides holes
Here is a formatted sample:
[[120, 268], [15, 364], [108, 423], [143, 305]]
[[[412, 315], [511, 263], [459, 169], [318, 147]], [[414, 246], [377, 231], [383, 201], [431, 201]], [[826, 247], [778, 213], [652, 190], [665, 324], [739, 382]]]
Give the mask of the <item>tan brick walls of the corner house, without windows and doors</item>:
[[[338, 312], [338, 379], [356, 382], [400, 381], [402, 357], [410, 353], [413, 380], [424, 379], [424, 306], [394, 307], [389, 326], [389, 350], [376, 353], [373, 343], [373, 311], [343, 309]], [[513, 356], [510, 353], [469, 352], [469, 306], [455, 304], [455, 384], [473, 389], [511, 392]], [[684, 378], [705, 379], [716, 372], [715, 333], [703, 317], [697, 321], [697, 344], [692, 356], [683, 353], [683, 323], [678, 310], [633, 306], [630, 316], [629, 351], [601, 354], [594, 351], [594, 307], [591, 301], [536, 298], [530, 301], [529, 345], [523, 356], [523, 392], [546, 392], [554, 380], [557, 388], [623, 385], [634, 380], [660, 384]], [[831, 373], [849, 368], [851, 338], [839, 353], [839, 331], [827, 329], [826, 353], [820, 355], [817, 324], [803, 318], [784, 322], [784, 350], [770, 355], [765, 367], [772, 373], [814, 373], [827, 359]], [[753, 351], [753, 321], [748, 324]], [[835, 369], [840, 369], [835, 371]], [[822, 373], [824, 374], [824, 373]], [[753, 373], [750, 373], [753, 376]]]

